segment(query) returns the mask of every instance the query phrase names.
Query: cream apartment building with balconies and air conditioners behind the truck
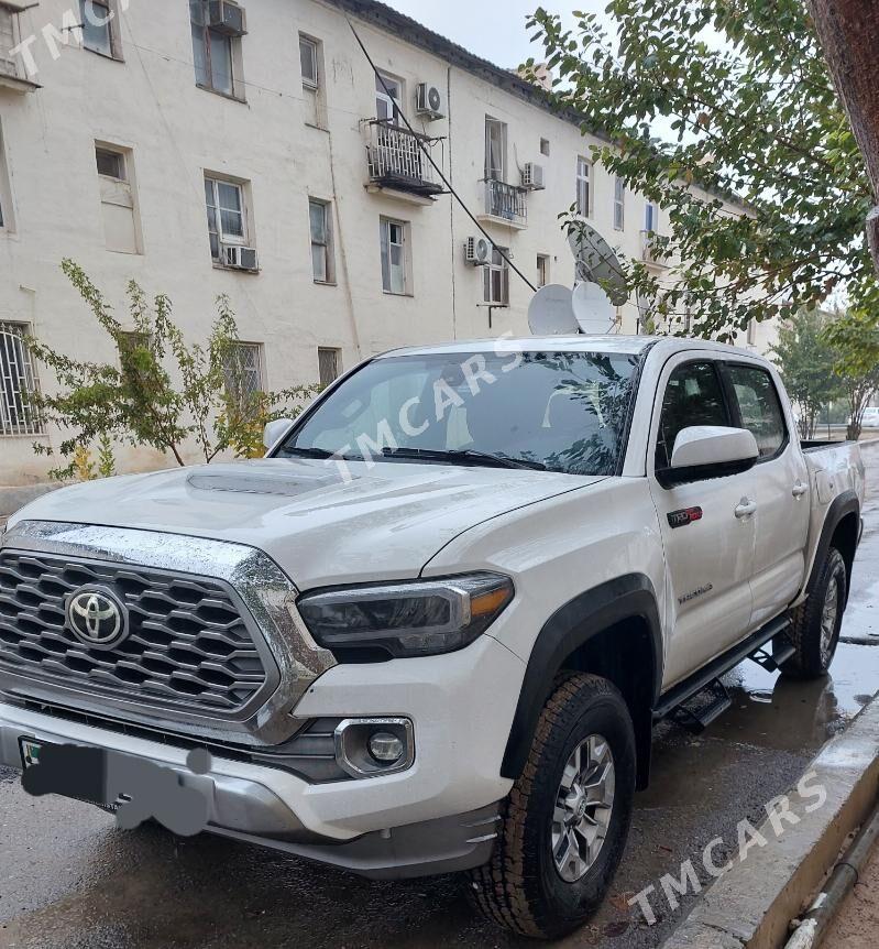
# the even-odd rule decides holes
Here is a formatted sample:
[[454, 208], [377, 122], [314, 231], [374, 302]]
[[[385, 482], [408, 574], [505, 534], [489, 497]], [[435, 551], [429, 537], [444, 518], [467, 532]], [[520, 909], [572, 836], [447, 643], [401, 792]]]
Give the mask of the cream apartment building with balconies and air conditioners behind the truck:
[[[33, 443], [58, 440], [29, 405], [53, 381], [24, 337], [113, 359], [63, 258], [122, 321], [129, 280], [167, 294], [190, 338], [227, 294], [252, 386], [326, 383], [399, 346], [527, 334], [532, 291], [498, 249], [535, 285], [572, 284], [572, 204], [649, 261], [667, 222], [592, 164], [597, 141], [372, 0], [0, 0], [0, 484], [43, 479]], [[619, 308], [618, 331], [638, 325]]]

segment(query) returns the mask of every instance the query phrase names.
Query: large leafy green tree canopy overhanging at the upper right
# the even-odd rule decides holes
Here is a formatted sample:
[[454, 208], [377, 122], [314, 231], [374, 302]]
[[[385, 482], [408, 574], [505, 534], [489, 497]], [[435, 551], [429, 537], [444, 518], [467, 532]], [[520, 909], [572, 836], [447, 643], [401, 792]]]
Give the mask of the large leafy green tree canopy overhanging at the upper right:
[[[606, 139], [596, 161], [668, 211], [653, 252], [682, 263], [657, 275], [624, 261], [638, 298], [660, 319], [689, 309], [695, 332], [719, 339], [837, 287], [877, 312], [870, 183], [800, 0], [612, 0], [607, 11], [614, 35], [594, 14], [569, 31], [542, 8], [529, 25], [557, 75], [556, 107]], [[734, 195], [744, 215], [724, 204]]]

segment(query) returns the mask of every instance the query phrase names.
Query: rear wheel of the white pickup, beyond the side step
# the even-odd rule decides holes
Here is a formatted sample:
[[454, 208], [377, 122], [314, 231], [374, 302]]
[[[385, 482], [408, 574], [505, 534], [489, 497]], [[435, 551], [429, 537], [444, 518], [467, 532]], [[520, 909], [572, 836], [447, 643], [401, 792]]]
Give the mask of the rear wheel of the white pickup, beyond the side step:
[[831, 547], [809, 599], [792, 613], [789, 636], [796, 652], [782, 663], [783, 675], [795, 679], [817, 679], [827, 674], [839, 644], [847, 592], [845, 560], [835, 547]]

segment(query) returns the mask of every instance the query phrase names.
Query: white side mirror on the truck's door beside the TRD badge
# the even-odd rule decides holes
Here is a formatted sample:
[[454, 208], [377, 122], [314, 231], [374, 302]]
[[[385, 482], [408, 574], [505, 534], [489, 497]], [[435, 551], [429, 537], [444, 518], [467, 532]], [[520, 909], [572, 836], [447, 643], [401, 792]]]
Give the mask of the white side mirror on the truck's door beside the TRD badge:
[[663, 488], [740, 475], [760, 457], [757, 439], [747, 428], [693, 425], [674, 439], [671, 465], [657, 471]]

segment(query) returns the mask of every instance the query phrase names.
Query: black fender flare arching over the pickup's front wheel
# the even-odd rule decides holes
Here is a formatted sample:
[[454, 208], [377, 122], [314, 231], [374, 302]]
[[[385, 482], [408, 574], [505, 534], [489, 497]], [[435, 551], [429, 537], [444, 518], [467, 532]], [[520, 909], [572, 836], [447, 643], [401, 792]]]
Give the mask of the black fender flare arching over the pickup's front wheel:
[[[642, 765], [646, 753], [647, 768], [649, 768], [652, 708], [659, 699], [662, 685], [662, 625], [659, 620], [656, 592], [649, 577], [644, 574], [626, 574], [579, 593], [556, 610], [543, 624], [531, 648], [525, 670], [525, 680], [501, 765], [503, 777], [515, 781], [521, 774], [537, 730], [537, 721], [564, 659], [593, 636], [631, 619], [642, 619], [650, 631], [649, 641], [653, 659], [652, 695], [649, 708], [644, 709], [644, 715], [635, 722], [639, 759]], [[642, 776], [639, 785], [645, 786], [646, 774], [641, 766], [639, 772]]]

